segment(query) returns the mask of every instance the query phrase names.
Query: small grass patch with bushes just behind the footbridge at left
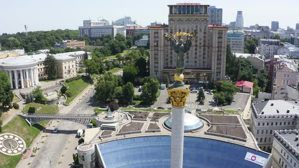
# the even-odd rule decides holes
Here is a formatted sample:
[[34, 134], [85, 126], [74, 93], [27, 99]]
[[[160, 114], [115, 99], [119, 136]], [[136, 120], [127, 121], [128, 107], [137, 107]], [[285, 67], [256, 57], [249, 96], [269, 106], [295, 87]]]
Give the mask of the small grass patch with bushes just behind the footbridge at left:
[[[26, 104], [24, 107], [23, 112], [28, 113], [29, 107], [35, 107], [35, 113], [50, 113], [55, 114], [58, 112], [58, 107], [48, 104], [39, 104], [39, 103], [29, 103]], [[41, 110], [38, 110], [38, 108], [42, 107]]]

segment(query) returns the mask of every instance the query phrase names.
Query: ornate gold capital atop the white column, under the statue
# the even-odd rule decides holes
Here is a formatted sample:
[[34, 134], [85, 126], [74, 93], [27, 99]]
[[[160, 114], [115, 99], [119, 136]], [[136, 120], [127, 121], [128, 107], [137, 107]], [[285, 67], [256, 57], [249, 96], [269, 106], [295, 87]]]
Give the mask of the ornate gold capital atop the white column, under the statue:
[[183, 108], [186, 105], [189, 89], [168, 89], [168, 96], [174, 108]]

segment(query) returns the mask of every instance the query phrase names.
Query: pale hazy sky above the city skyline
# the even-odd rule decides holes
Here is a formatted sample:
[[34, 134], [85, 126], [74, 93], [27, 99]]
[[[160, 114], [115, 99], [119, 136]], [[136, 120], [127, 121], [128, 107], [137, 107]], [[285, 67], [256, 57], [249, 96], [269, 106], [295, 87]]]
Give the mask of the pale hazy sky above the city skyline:
[[244, 26], [279, 21], [279, 27], [295, 28], [299, 23], [298, 0], [1, 0], [0, 34], [25, 31], [78, 29], [83, 20], [98, 17], [111, 21], [131, 16], [137, 24], [168, 23], [168, 7], [176, 3], [201, 3], [223, 9], [223, 23], [236, 20], [243, 11]]

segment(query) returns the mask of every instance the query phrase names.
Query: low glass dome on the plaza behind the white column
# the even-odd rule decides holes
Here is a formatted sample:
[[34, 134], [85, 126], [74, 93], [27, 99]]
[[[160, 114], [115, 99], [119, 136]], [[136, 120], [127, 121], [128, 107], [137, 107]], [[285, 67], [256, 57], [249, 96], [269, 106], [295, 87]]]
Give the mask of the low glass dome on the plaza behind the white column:
[[[165, 120], [165, 125], [167, 128], [171, 129], [171, 116]], [[203, 122], [197, 116], [184, 113], [184, 132], [191, 132], [193, 130], [198, 130], [203, 126]]]

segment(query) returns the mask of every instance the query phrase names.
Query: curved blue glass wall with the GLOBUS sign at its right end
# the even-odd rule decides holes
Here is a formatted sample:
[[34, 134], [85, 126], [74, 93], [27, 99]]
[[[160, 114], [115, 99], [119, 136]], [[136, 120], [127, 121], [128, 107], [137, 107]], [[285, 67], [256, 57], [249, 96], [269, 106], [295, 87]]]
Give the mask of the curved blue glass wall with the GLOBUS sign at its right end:
[[[120, 139], [98, 144], [107, 168], [152, 168], [170, 167], [170, 136], [150, 136]], [[184, 168], [263, 168], [245, 158], [250, 152], [265, 157], [265, 164], [271, 156], [263, 151], [234, 143], [207, 138], [184, 137]]]

